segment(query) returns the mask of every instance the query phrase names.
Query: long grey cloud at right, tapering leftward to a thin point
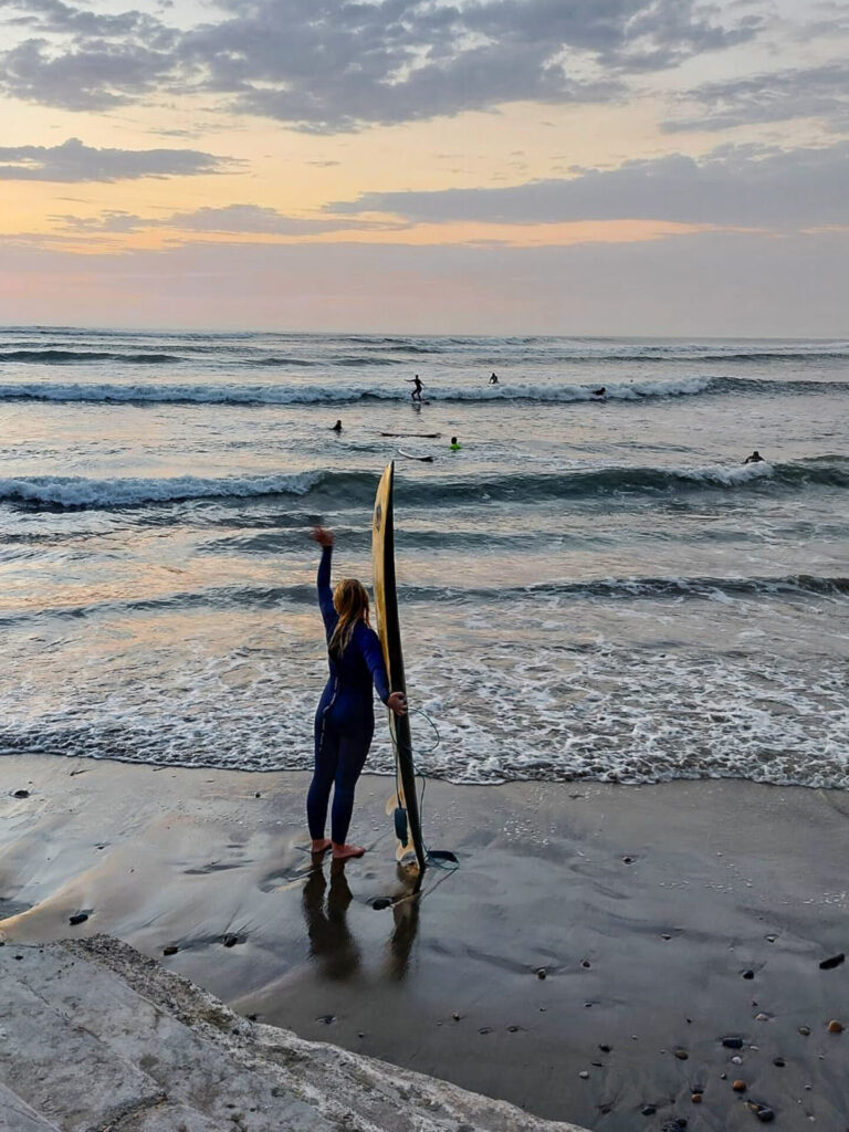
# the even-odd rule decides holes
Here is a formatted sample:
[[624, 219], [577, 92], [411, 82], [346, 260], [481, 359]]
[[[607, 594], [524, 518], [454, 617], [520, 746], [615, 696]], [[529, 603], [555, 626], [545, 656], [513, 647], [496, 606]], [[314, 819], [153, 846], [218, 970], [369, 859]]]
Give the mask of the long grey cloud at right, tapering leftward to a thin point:
[[726, 146], [701, 161], [672, 154], [569, 179], [505, 188], [366, 192], [326, 206], [411, 222], [554, 224], [661, 220], [739, 226], [849, 221], [849, 143], [822, 149]]

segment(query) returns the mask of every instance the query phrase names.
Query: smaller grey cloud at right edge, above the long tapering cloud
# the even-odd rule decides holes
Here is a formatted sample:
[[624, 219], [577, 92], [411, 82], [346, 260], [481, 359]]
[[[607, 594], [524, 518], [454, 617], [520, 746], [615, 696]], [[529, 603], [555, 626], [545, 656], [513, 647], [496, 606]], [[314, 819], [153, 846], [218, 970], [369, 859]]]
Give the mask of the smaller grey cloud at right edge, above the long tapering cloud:
[[663, 122], [667, 132], [726, 130], [757, 122], [820, 118], [832, 130], [849, 130], [849, 62], [705, 83], [678, 98], [684, 113]]

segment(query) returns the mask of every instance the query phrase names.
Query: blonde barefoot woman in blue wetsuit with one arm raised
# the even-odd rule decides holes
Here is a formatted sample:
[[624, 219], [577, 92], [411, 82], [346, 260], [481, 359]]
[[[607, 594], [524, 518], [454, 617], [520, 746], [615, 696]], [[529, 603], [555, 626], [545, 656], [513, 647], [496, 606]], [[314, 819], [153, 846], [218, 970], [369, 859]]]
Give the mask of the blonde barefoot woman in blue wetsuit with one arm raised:
[[[362, 846], [346, 842], [354, 789], [375, 734], [372, 684], [386, 706], [406, 714], [402, 692], [391, 692], [383, 650], [369, 625], [369, 597], [355, 577], [331, 589], [333, 533], [317, 526], [312, 538], [321, 547], [318, 604], [327, 637], [331, 675], [321, 693], [315, 722], [316, 765], [307, 795], [307, 821], [312, 852], [333, 850], [334, 860], [362, 857]], [[333, 790], [331, 837], [325, 837]]]

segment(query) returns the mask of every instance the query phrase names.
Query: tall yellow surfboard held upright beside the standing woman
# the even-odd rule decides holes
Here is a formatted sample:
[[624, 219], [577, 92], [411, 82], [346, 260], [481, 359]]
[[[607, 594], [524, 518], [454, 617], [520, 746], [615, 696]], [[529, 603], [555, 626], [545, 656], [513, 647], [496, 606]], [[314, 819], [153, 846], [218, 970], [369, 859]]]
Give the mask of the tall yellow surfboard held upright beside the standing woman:
[[[377, 611], [377, 635], [384, 651], [384, 661], [389, 677], [389, 688], [406, 695], [404, 680], [404, 654], [401, 646], [401, 623], [398, 600], [395, 589], [395, 523], [393, 513], [393, 486], [395, 462], [387, 465], [380, 477], [375, 497], [375, 514], [371, 524], [371, 557], [375, 576], [375, 606]], [[400, 830], [396, 816], [396, 832], [401, 842], [400, 856], [414, 852], [420, 874], [427, 868], [427, 854], [421, 835], [419, 798], [415, 792], [415, 767], [410, 734], [410, 718], [389, 713], [389, 729], [395, 747], [397, 771], [397, 807], [406, 818], [406, 830]], [[403, 820], [401, 822], [403, 825]], [[403, 834], [403, 835], [401, 835]], [[405, 840], [406, 839], [406, 840]]]

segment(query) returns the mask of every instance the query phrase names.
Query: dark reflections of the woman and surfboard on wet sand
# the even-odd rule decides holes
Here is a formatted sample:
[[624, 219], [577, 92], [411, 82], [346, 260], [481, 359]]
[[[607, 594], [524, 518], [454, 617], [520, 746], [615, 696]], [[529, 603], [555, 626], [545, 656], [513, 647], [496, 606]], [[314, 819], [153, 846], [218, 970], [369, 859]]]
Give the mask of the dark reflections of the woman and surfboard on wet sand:
[[[317, 859], [303, 886], [303, 919], [309, 936], [309, 957], [328, 979], [344, 981], [360, 968], [360, 947], [348, 925], [353, 900], [344, 861], [331, 861], [329, 886]], [[397, 866], [398, 884], [392, 892], [393, 931], [386, 943], [385, 975], [395, 980], [406, 976], [410, 953], [419, 928], [418, 871]]]

